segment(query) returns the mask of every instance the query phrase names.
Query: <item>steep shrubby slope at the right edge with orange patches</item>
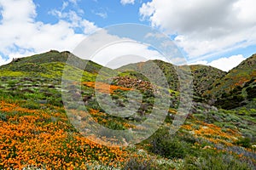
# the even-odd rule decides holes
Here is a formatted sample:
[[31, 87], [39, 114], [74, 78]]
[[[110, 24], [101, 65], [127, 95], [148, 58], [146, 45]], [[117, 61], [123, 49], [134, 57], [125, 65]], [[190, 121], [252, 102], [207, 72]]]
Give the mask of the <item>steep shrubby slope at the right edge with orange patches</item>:
[[224, 77], [212, 84], [204, 95], [215, 99], [214, 105], [232, 109], [256, 98], [256, 54], [230, 70]]

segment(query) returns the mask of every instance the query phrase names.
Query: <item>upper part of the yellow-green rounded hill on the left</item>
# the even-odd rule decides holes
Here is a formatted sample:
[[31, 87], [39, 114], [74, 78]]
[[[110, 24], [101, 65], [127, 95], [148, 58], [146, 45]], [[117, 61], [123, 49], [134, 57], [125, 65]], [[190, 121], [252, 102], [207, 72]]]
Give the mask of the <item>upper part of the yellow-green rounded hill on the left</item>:
[[[93, 61], [80, 59], [68, 51], [58, 52], [56, 50], [50, 50], [44, 54], [35, 54], [29, 57], [13, 59], [9, 65], [3, 65], [0, 70], [16, 72], [20, 75], [41, 75], [52, 74], [56, 77], [61, 78], [61, 73], [66, 65], [67, 59], [72, 60], [72, 67], [76, 69], [84, 70], [91, 74], [96, 74], [98, 71], [105, 71], [105, 75], [112, 73], [111, 69], [98, 65]], [[86, 65], [86, 66], [85, 66]], [[53, 72], [54, 71], [54, 72]], [[60, 73], [60, 74], [58, 74]]]

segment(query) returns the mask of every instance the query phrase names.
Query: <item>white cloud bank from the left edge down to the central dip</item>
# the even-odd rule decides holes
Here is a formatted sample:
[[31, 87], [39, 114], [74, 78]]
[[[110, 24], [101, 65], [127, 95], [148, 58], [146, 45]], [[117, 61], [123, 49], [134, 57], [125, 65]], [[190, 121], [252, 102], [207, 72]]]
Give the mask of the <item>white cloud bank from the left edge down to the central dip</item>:
[[[19, 4], [16, 4], [17, 2]], [[73, 48], [77, 47], [79, 42], [87, 39], [90, 44], [89, 51], [82, 48], [83, 53], [81, 55], [79, 55], [77, 51], [73, 51], [74, 54], [84, 57], [90, 52], [96, 52], [97, 49], [94, 47], [99, 47], [101, 44], [126, 40], [125, 38], [110, 35], [107, 31], [96, 32], [96, 36], [85, 38], [86, 35], [96, 31], [98, 28], [94, 23], [84, 20], [75, 11], [67, 10], [67, 3], [63, 3], [60, 9], [53, 9], [49, 12], [49, 14], [53, 14], [59, 19], [55, 24], [45, 24], [40, 21], [35, 21], [37, 13], [36, 6], [32, 0], [0, 0], [0, 6], [3, 8], [1, 11], [3, 20], [0, 24], [0, 32], [3, 35], [0, 39], [0, 52], [9, 56], [10, 60], [12, 58], [42, 53], [49, 49], [73, 51]], [[15, 10], [15, 8], [13, 8], [14, 6], [19, 7], [20, 10]], [[18, 16], [22, 17], [16, 20]], [[76, 33], [77, 30], [81, 31], [81, 33]], [[84, 51], [87, 53], [84, 53]], [[158, 52], [148, 49], [146, 46], [137, 43], [121, 42], [102, 49], [93, 60], [102, 65], [106, 65], [108, 61], [118, 56], [130, 56], [110, 65], [117, 67], [127, 64], [128, 61], [140, 61], [141, 59], [137, 57], [131, 57], [131, 55], [134, 54], [143, 54], [143, 57], [147, 59], [156, 59], [159, 56]], [[126, 63], [124, 63], [124, 61], [126, 61]], [[5, 59], [1, 58], [0, 65], [4, 63], [6, 63]]]

